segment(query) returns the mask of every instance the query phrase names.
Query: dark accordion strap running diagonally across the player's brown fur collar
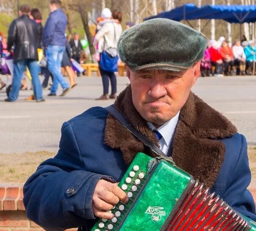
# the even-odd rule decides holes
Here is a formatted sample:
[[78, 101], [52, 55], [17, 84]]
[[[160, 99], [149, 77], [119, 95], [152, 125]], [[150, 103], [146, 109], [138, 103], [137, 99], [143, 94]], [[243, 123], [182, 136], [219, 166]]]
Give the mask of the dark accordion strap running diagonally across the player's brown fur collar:
[[167, 161], [175, 164], [173, 161], [173, 158], [167, 157], [167, 155], [165, 155], [164, 152], [162, 152], [161, 149], [159, 149], [159, 147], [156, 146], [156, 144], [154, 144], [152, 141], [150, 141], [150, 139], [148, 139], [147, 136], [145, 136], [144, 134], [142, 134], [138, 130], [136, 130], [136, 128], [134, 128], [134, 126], [131, 125], [125, 119], [123, 114], [120, 113], [119, 111], [117, 111], [117, 109], [115, 109], [113, 105], [107, 106], [107, 107], [105, 107], [105, 109], [107, 111], [109, 111], [109, 113], [111, 113], [120, 122], [120, 124], [122, 124], [122, 126], [124, 126], [129, 132], [131, 132], [137, 139], [142, 141], [142, 143], [145, 144], [145, 146], [149, 147], [153, 152], [155, 152], [155, 154], [157, 155], [158, 158], [167, 160]]

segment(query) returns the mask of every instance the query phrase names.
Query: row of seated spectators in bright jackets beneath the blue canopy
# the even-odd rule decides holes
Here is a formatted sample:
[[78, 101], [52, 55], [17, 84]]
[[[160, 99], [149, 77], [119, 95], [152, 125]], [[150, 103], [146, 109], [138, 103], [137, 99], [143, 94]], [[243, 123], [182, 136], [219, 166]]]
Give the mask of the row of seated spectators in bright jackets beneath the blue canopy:
[[256, 46], [243, 35], [229, 46], [224, 37], [208, 41], [201, 63], [201, 76], [255, 75]]

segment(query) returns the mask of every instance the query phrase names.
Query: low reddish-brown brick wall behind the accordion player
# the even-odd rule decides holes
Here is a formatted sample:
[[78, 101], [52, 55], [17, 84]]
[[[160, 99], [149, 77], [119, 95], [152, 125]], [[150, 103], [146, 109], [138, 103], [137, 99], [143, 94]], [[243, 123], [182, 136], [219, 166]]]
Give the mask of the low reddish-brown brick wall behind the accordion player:
[[[256, 201], [256, 188], [250, 188]], [[0, 184], [0, 231], [43, 231], [38, 225], [28, 220], [22, 203], [22, 184]], [[76, 231], [69, 229], [68, 231]]]

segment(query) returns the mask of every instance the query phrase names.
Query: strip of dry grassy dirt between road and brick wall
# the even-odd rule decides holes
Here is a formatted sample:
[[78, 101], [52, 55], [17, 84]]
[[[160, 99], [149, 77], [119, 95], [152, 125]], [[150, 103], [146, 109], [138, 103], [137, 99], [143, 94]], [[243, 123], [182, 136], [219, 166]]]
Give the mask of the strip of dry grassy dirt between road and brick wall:
[[[37, 166], [48, 158], [56, 155], [53, 152], [25, 152], [0, 154], [0, 183], [25, 182], [36, 170]], [[250, 187], [256, 186], [256, 146], [248, 147], [252, 182]]]

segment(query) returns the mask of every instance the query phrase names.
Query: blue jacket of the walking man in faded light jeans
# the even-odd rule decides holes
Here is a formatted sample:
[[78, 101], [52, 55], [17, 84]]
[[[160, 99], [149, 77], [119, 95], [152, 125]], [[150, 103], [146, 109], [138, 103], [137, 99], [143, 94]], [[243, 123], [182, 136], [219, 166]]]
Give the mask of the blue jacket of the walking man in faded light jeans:
[[43, 31], [43, 46], [66, 46], [67, 17], [61, 9], [50, 13]]

